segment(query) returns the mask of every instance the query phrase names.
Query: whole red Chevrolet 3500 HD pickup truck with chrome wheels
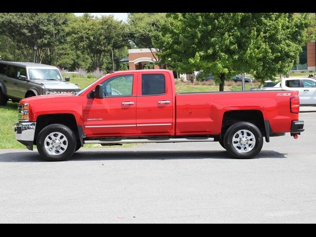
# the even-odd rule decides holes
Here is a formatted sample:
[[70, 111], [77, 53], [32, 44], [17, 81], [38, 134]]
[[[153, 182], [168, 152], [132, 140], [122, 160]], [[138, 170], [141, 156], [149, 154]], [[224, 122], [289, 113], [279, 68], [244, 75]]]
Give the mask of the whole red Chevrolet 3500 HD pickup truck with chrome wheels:
[[172, 71], [107, 74], [73, 94], [22, 99], [15, 137], [46, 160], [84, 144], [217, 141], [233, 158], [253, 158], [263, 137], [304, 131], [297, 91], [175, 92]]

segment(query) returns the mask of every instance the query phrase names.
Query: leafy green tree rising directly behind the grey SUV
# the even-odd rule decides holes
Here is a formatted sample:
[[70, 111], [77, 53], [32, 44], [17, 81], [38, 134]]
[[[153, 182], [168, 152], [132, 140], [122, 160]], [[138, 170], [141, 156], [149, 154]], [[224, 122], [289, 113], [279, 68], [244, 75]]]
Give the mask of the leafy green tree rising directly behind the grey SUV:
[[[0, 34], [8, 37], [18, 48], [24, 60], [41, 63], [68, 24], [71, 13], [0, 13]], [[51, 50], [49, 50], [51, 49]]]

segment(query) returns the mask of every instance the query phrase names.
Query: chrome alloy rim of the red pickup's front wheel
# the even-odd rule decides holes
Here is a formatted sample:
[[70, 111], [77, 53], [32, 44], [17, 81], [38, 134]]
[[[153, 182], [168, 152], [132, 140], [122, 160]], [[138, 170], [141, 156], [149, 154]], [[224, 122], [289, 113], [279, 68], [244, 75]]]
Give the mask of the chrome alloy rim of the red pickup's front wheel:
[[46, 136], [44, 147], [49, 155], [61, 155], [67, 150], [68, 140], [64, 134], [52, 132]]

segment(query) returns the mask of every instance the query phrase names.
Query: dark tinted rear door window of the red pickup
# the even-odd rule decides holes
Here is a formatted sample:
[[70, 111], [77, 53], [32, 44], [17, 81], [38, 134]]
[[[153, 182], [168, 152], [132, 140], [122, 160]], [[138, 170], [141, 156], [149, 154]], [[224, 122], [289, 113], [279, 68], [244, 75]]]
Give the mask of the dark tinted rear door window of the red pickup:
[[142, 75], [142, 95], [161, 95], [166, 93], [166, 82], [163, 74]]

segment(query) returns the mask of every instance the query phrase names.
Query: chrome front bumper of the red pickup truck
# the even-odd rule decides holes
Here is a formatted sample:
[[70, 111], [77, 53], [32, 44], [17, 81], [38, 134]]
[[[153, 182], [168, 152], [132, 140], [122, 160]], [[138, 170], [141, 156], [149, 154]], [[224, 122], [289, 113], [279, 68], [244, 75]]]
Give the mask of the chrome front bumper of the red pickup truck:
[[16, 122], [14, 123], [15, 139], [33, 151], [36, 122]]

